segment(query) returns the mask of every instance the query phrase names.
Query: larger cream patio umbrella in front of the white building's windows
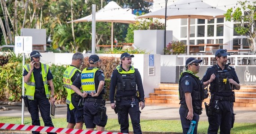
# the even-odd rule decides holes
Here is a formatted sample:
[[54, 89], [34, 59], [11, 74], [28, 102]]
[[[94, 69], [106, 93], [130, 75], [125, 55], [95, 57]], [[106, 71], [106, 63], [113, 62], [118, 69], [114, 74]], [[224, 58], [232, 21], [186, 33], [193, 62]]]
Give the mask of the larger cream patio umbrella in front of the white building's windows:
[[[168, 19], [188, 18], [187, 54], [190, 52], [190, 18], [207, 19], [224, 17], [224, 10], [212, 7], [203, 0], [178, 0], [167, 7]], [[141, 15], [137, 18], [162, 18], [165, 17], [165, 8]]]

